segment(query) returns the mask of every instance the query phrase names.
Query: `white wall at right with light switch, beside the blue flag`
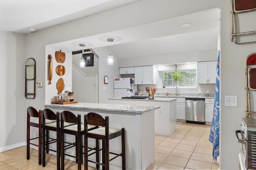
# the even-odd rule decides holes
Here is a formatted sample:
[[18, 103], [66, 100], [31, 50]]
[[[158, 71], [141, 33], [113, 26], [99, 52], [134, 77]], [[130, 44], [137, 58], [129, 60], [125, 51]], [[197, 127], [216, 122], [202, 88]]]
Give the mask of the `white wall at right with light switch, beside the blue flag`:
[[[238, 169], [240, 144], [236, 141], [235, 130], [240, 129], [239, 121], [245, 117], [245, 61], [256, 52], [256, 43], [237, 45], [230, 41], [230, 1], [221, 1], [221, 54], [220, 54], [220, 168]], [[248, 20], [255, 20], [250, 16]], [[255, 30], [255, 27], [254, 27]], [[238, 107], [226, 107], [225, 96], [238, 96]]]

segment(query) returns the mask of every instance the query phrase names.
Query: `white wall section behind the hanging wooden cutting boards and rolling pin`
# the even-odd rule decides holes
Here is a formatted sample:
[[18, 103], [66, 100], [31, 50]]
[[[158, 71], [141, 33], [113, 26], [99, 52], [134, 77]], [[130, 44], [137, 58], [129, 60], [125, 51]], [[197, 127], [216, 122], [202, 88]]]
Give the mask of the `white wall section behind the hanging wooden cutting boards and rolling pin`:
[[[55, 58], [55, 51], [60, 51], [60, 49], [56, 49], [50, 47], [50, 45], [46, 45], [46, 55], [45, 55], [45, 104], [51, 104], [53, 101], [53, 96], [58, 96], [58, 89], [56, 84], [59, 78], [64, 80], [64, 89], [62, 90], [62, 94], [67, 91], [67, 88], [71, 88], [72, 91], [72, 52], [65, 51], [61, 49], [61, 52], [64, 52], [66, 57], [64, 63], [58, 63]], [[48, 55], [52, 55], [52, 84], [49, 84], [49, 60]], [[63, 65], [65, 67], [65, 74], [63, 76], [59, 76], [56, 73], [56, 67], [58, 65]]]

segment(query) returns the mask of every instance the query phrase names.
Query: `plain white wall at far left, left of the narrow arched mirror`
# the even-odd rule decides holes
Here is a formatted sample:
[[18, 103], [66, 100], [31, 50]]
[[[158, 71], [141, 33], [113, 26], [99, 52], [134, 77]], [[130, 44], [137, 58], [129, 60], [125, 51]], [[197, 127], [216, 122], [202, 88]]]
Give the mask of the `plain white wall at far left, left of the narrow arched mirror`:
[[0, 37], [0, 152], [3, 152], [20, 147], [26, 141], [25, 102], [31, 99], [26, 99], [24, 95], [25, 62], [35, 56], [25, 55], [24, 34], [0, 31]]

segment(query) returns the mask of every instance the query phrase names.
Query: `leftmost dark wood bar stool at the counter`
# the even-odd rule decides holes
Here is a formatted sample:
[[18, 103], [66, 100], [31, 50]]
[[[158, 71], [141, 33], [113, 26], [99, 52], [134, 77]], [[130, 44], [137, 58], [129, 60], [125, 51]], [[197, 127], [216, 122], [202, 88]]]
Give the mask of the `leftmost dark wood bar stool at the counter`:
[[[36, 117], [38, 119], [31, 120], [30, 117]], [[30, 139], [30, 126], [38, 128], [38, 137]], [[28, 107], [27, 109], [27, 160], [30, 159], [30, 144], [38, 147], [38, 164], [42, 164], [42, 147], [41, 147], [41, 134], [42, 134], [42, 111], [39, 112], [34, 107]], [[38, 145], [31, 143], [30, 141], [38, 139]]]

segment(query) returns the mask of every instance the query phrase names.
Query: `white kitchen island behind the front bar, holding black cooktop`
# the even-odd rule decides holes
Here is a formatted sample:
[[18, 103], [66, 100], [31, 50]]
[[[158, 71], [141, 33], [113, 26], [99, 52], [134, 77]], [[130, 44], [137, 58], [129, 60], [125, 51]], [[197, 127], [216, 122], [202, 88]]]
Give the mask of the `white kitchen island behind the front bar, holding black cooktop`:
[[110, 98], [110, 104], [160, 106], [155, 110], [155, 133], [169, 136], [176, 130], [176, 98], [123, 99]]

